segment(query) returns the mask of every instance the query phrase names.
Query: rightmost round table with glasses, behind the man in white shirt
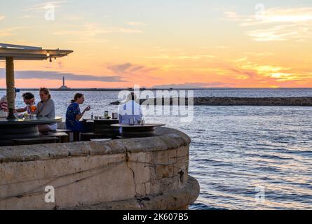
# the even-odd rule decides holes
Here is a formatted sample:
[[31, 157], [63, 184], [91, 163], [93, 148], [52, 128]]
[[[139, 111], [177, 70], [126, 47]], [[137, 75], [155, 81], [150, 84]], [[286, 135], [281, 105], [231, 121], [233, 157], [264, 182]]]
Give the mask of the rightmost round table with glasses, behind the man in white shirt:
[[123, 132], [121, 133], [122, 138], [143, 138], [143, 137], [154, 137], [155, 127], [162, 127], [165, 124], [146, 124], [146, 125], [111, 125], [111, 127], [122, 127]]

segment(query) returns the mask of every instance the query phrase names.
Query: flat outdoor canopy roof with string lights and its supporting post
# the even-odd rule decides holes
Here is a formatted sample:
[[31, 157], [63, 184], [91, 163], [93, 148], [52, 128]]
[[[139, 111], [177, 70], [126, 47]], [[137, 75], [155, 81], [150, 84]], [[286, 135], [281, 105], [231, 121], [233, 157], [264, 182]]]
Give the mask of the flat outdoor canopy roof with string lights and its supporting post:
[[49, 50], [39, 47], [0, 43], [0, 60], [6, 60], [6, 98], [8, 100], [8, 118], [15, 119], [15, 78], [14, 60], [45, 60], [67, 57], [72, 50]]

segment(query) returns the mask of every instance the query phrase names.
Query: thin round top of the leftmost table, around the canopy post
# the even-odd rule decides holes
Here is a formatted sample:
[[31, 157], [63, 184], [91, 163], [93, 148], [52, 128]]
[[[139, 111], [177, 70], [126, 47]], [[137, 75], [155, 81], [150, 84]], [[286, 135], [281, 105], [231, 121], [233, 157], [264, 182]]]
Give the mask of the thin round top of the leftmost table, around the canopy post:
[[62, 123], [62, 118], [55, 117], [54, 119], [50, 119], [46, 117], [34, 117], [34, 118], [17, 118], [13, 120], [0, 118], [0, 125], [43, 125], [54, 123]]

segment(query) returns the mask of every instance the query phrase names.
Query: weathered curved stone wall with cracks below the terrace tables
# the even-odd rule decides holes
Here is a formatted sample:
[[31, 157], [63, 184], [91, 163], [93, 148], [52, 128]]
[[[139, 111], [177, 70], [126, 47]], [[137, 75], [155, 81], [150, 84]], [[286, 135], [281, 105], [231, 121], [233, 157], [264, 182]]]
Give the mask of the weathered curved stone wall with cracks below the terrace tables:
[[[181, 209], [199, 194], [182, 132], [0, 148], [0, 209]], [[55, 203], [45, 188], [55, 188]], [[167, 195], [168, 197], [164, 197]]]

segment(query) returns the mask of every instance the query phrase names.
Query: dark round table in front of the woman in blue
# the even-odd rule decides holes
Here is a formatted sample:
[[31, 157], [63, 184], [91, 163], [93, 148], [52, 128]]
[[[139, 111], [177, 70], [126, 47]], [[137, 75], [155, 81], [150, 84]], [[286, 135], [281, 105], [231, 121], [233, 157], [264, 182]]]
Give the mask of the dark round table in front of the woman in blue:
[[119, 134], [117, 127], [111, 127], [111, 125], [118, 124], [118, 119], [83, 119], [85, 122], [93, 122], [93, 133], [104, 134], [107, 136], [116, 136]]

